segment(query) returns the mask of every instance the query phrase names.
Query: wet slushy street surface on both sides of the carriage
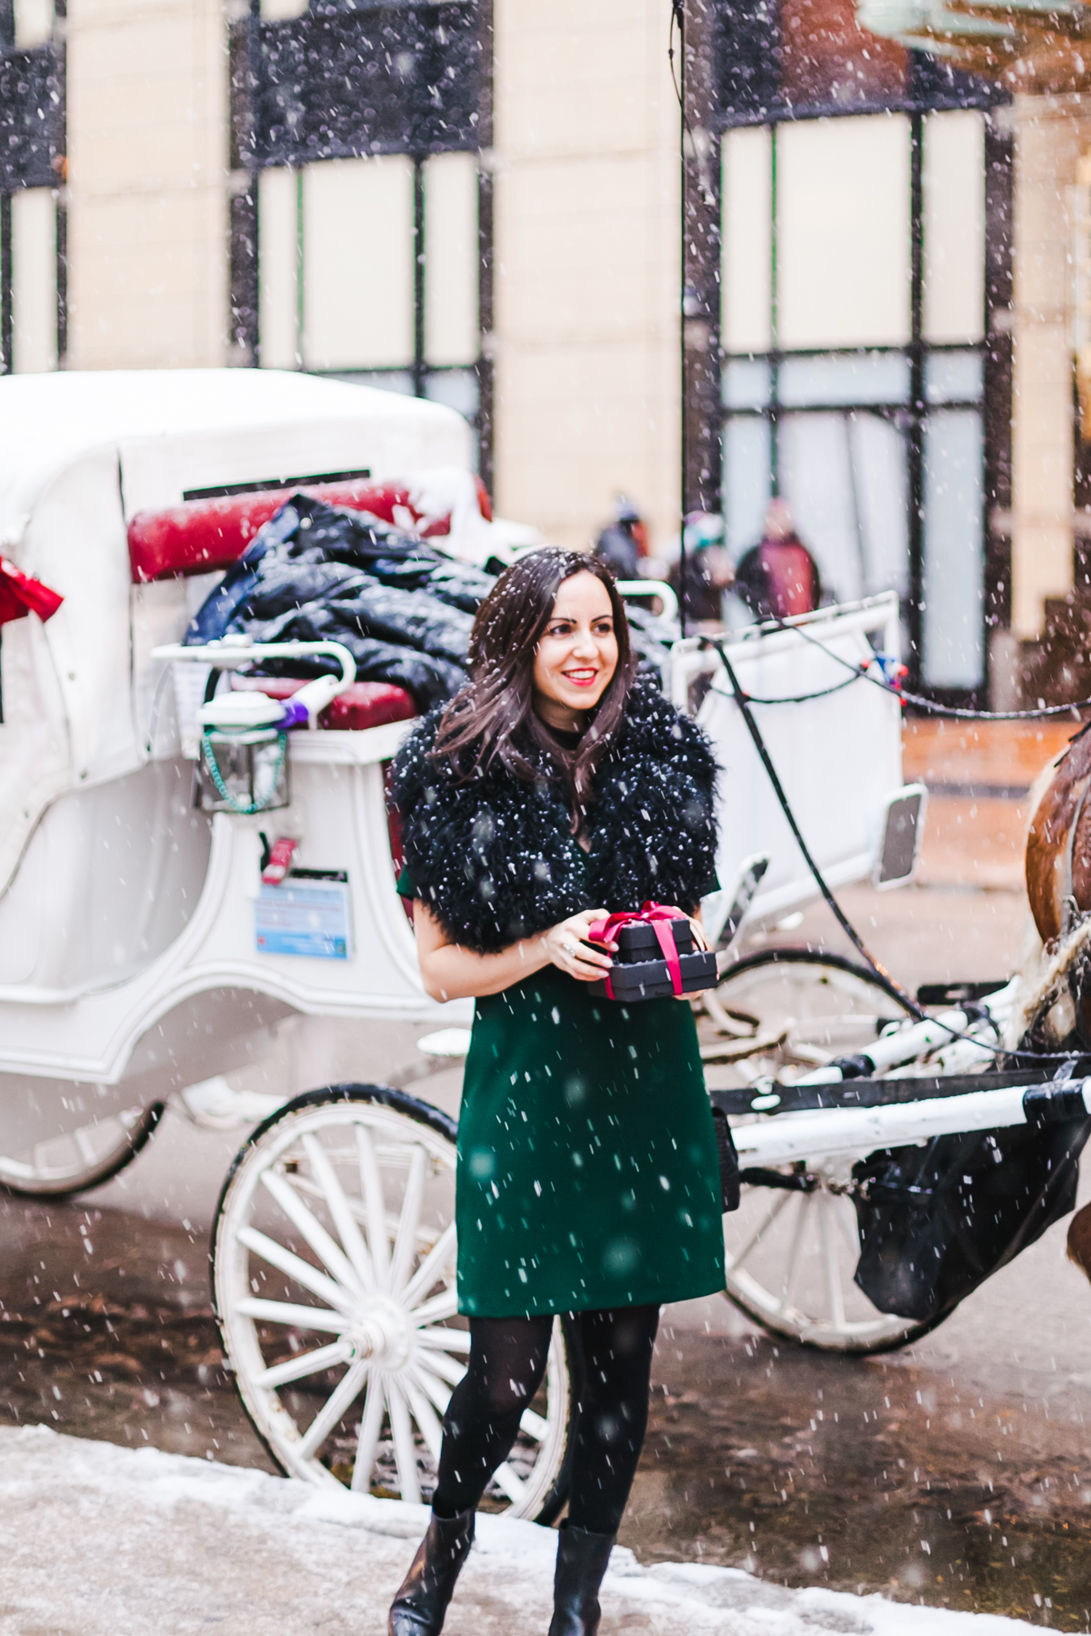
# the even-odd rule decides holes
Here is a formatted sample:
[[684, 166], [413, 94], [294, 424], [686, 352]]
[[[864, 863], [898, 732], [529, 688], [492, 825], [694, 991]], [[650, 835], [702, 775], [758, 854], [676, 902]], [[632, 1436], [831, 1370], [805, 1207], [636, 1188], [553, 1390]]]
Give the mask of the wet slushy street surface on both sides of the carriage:
[[[959, 779], [950, 743], [911, 751], [908, 775], [916, 757], [932, 785], [924, 883], [841, 893], [901, 982], [1014, 967], [1019, 792], [1070, 731], [1011, 754], [963, 744]], [[975, 875], [975, 859], [988, 870]], [[821, 906], [749, 933], [751, 947], [803, 941], [844, 947]], [[424, 1094], [453, 1106], [456, 1091]], [[208, 1227], [237, 1140], [168, 1114], [97, 1196], [0, 1202], [0, 1422], [275, 1471], [224, 1371], [208, 1291]], [[622, 1541], [643, 1561], [1091, 1629], [1091, 1288], [1063, 1234], [882, 1358], [770, 1340], [720, 1297], [667, 1309]]]

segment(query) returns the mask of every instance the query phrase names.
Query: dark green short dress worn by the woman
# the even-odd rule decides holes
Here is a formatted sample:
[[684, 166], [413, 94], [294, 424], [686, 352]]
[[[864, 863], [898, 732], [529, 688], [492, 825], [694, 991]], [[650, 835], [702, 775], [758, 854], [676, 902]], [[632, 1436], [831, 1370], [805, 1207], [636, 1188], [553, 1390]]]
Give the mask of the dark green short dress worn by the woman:
[[[407, 872], [397, 883], [415, 897]], [[458, 1121], [458, 1310], [530, 1317], [723, 1289], [712, 1108], [684, 1000], [554, 965], [476, 1001]]]

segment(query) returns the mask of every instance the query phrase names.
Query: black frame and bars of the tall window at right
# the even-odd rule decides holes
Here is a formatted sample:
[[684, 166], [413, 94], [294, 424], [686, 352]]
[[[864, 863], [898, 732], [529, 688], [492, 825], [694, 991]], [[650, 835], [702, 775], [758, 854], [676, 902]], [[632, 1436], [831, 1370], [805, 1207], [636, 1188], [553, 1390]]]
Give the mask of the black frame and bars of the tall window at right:
[[[780, 11], [779, 0], [685, 0], [685, 52], [682, 85], [682, 380], [684, 380], [684, 474], [682, 509], [725, 509], [723, 429], [728, 417], [748, 411], [723, 404], [723, 368], [736, 357], [769, 358], [777, 365], [785, 353], [733, 353], [721, 348], [720, 337], [720, 255], [721, 255], [721, 188], [720, 144], [726, 131], [739, 126], [775, 129], [801, 119], [854, 118], [860, 115], [903, 113], [911, 136], [911, 334], [903, 348], [819, 348], [823, 357], [901, 352], [909, 360], [909, 402], [887, 406], [903, 419], [908, 434], [908, 532], [909, 592], [905, 607], [911, 682], [931, 697], [950, 703], [978, 703], [990, 687], [990, 633], [1011, 623], [1011, 209], [1012, 209], [1012, 136], [1004, 110], [1011, 97], [1001, 87], [963, 74], [929, 57], [908, 54], [905, 90], [898, 97], [859, 98], [857, 101], [793, 103], [780, 87]], [[924, 190], [923, 152], [924, 118], [929, 113], [978, 110], [985, 115], [985, 288], [983, 340], [957, 347], [926, 342], [923, 329], [924, 301]], [[700, 141], [697, 134], [700, 133]], [[983, 674], [977, 689], [927, 687], [921, 676], [923, 661], [923, 589], [924, 589], [924, 427], [929, 404], [924, 391], [926, 362], [945, 350], [977, 350], [983, 368], [983, 401], [973, 402], [983, 417], [985, 443], [985, 517], [983, 517]], [[877, 412], [882, 406], [839, 402], [837, 412]], [[942, 404], [955, 409], [954, 401]], [[749, 411], [754, 414], [756, 411]], [[759, 411], [777, 419], [785, 412], [805, 412], [793, 406]], [[775, 425], [774, 425], [775, 434]], [[774, 460], [775, 492], [775, 460]]]

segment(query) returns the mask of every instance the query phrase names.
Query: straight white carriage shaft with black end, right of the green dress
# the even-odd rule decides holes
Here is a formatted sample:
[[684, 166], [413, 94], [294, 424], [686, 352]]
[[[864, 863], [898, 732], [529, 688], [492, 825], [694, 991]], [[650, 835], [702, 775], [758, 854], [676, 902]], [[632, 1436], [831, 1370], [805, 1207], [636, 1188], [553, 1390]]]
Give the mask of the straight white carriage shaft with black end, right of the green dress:
[[739, 1165], [790, 1165], [793, 1160], [872, 1153], [908, 1147], [934, 1135], [996, 1130], [1004, 1126], [1083, 1119], [1091, 1112], [1091, 1080], [1012, 1085], [965, 1096], [939, 1096], [887, 1108], [823, 1108], [779, 1114], [757, 1124], [734, 1126]]

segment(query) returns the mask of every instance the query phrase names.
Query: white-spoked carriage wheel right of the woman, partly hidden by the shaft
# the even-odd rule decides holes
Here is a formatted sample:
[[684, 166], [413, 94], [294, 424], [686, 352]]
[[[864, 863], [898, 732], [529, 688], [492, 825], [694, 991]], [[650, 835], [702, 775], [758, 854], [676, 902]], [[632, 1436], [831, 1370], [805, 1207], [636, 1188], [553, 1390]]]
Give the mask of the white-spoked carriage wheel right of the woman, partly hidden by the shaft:
[[[831, 1057], [865, 1050], [887, 1022], [905, 1016], [867, 967], [810, 949], [767, 949], [739, 960], [716, 988], [716, 1009], [725, 1018], [715, 1034], [713, 1018], [702, 1026], [703, 1054], [713, 1058], [710, 1090], [764, 1075], [798, 1078]], [[891, 1351], [932, 1325], [880, 1312], [852, 1281], [860, 1240], [846, 1191], [851, 1171], [852, 1158], [837, 1158], [783, 1166], [783, 1186], [744, 1184], [739, 1209], [723, 1217], [726, 1296], [762, 1328], [803, 1346]]]

